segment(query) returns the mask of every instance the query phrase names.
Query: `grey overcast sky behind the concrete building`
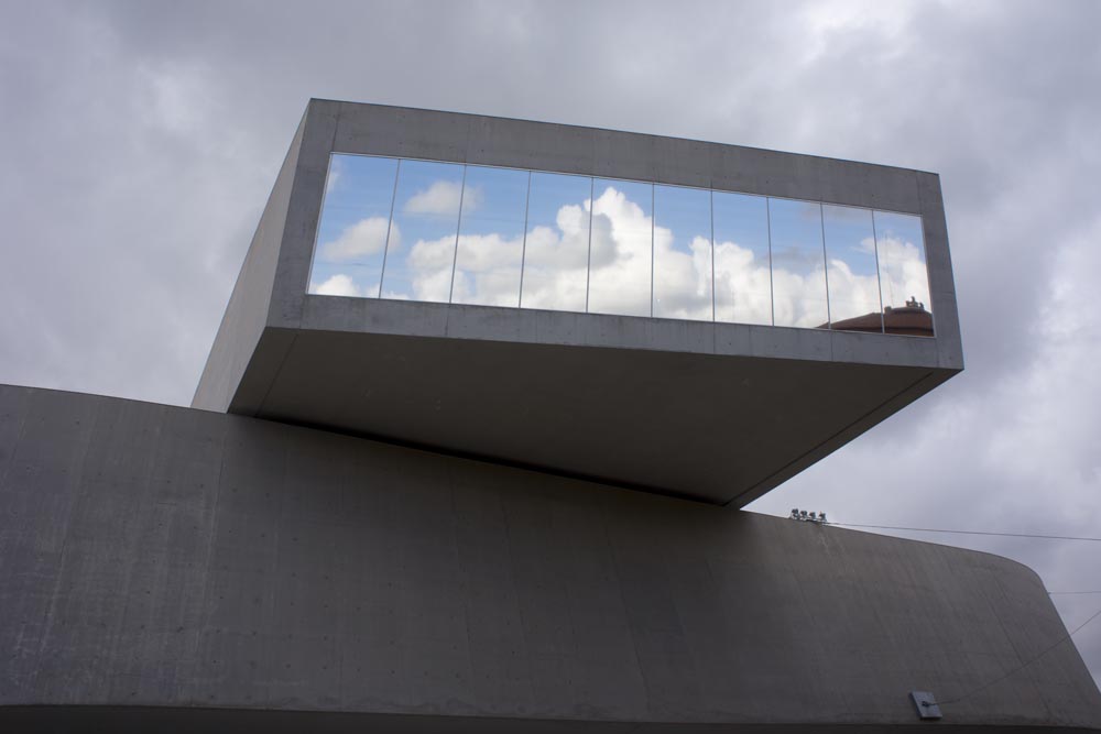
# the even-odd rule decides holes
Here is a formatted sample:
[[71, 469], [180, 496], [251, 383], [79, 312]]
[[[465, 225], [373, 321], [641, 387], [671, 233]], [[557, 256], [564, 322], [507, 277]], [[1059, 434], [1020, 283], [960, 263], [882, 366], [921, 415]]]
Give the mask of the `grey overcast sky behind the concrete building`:
[[[870, 161], [941, 175], [967, 370], [751, 508], [1101, 536], [1099, 28], [1090, 0], [0, 0], [0, 382], [188, 404], [310, 97]], [[913, 537], [1101, 591], [1098, 543]], [[1076, 642], [1101, 679], [1101, 621]]]

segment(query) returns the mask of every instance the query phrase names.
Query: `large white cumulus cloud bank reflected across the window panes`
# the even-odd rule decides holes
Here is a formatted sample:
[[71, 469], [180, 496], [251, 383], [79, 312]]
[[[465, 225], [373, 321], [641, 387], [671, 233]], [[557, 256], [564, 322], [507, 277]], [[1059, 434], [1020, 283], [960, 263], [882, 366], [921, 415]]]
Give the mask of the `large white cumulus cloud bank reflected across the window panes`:
[[[556, 226], [533, 228], [526, 245], [519, 235], [464, 234], [457, 261], [453, 235], [419, 240], [404, 259], [411, 289], [405, 295], [515, 306], [524, 254], [525, 307], [582, 311], [588, 298], [592, 313], [648, 316], [653, 258], [655, 313], [664, 318], [711, 319], [712, 254], [707, 237], [654, 227], [637, 202], [608, 186], [592, 204], [590, 238], [589, 208], [588, 200], [560, 207]], [[676, 247], [689, 237], [687, 245]], [[918, 287], [925, 273], [920, 250], [894, 240], [885, 247], [889, 272], [897, 274], [895, 288], [920, 299], [928, 291]], [[713, 308], [719, 320], [771, 324], [775, 309], [777, 324], [804, 328], [826, 324], [824, 263], [802, 273], [777, 266], [770, 274], [767, 259], [729, 241], [716, 244], [713, 262]], [[875, 275], [855, 274], [835, 259], [830, 277], [831, 293], [837, 294], [835, 320], [879, 310]]]

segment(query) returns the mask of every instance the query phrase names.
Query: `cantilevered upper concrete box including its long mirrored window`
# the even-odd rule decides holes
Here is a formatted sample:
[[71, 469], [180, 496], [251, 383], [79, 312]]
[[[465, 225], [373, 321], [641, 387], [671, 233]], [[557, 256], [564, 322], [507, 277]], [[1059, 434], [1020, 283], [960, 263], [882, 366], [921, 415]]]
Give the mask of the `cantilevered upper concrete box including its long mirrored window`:
[[194, 406], [739, 507], [962, 366], [935, 174], [314, 101]]

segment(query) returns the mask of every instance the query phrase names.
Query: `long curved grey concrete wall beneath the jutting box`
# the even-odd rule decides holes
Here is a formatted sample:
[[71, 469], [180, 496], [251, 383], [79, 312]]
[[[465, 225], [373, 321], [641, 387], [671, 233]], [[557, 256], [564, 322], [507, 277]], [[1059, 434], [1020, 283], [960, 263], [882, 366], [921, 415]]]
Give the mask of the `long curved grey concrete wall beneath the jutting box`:
[[[994, 556], [52, 391], [0, 387], [0, 723], [22, 726], [80, 704], [889, 727], [917, 723], [911, 690], [951, 700], [1066, 634]], [[1066, 642], [944, 709], [1101, 726]]]

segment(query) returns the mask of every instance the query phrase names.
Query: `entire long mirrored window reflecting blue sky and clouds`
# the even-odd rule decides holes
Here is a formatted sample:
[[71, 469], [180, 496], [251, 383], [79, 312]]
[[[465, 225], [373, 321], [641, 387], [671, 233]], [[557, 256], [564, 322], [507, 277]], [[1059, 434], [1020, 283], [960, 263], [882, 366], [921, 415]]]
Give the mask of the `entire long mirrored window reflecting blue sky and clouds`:
[[933, 336], [922, 220], [334, 154], [315, 295]]

